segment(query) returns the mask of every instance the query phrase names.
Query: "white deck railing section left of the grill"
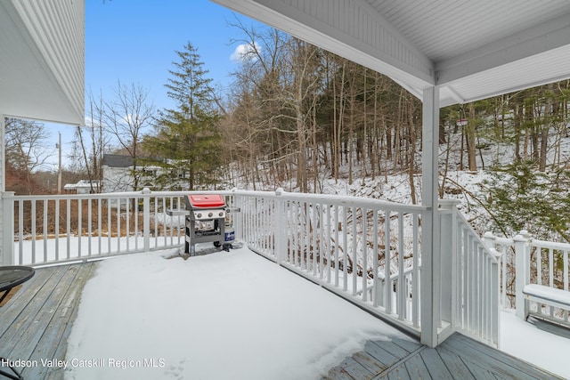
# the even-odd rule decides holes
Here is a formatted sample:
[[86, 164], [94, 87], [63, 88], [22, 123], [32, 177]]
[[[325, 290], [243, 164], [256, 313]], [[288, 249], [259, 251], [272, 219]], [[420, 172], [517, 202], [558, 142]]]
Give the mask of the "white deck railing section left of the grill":
[[[216, 191], [222, 193], [232, 198], [231, 191]], [[184, 217], [167, 211], [183, 208], [187, 194], [142, 190], [4, 197], [14, 237], [13, 247], [4, 249], [4, 264], [66, 263], [182, 247]]]

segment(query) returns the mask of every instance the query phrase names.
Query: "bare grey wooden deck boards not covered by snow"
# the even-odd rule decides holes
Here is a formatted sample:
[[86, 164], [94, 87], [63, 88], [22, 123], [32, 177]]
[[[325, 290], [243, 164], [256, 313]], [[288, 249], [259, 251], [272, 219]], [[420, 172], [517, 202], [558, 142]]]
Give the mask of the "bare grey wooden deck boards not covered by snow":
[[[37, 269], [0, 307], [0, 357], [10, 360], [64, 360], [81, 291], [96, 263]], [[303, 281], [300, 279], [299, 281]], [[6, 370], [6, 368], [1, 368]], [[20, 368], [25, 378], [61, 379], [63, 369]], [[327, 379], [551, 379], [552, 374], [454, 334], [436, 349], [417, 342], [368, 341], [364, 351], [330, 369]]]

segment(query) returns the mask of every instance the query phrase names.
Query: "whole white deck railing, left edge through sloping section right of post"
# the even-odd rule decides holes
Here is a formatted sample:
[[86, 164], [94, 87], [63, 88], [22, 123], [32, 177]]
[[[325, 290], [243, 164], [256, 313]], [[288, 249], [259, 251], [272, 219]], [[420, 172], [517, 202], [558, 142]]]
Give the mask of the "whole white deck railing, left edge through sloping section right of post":
[[[200, 191], [200, 193], [204, 193]], [[370, 198], [262, 191], [206, 191], [225, 197], [236, 239], [290, 271], [389, 319], [421, 331], [424, 206]], [[46, 265], [183, 247], [188, 192], [18, 196], [5, 193], [4, 265]], [[498, 345], [499, 275], [453, 204], [441, 215], [439, 342], [453, 331]], [[449, 231], [452, 233], [449, 233]], [[426, 305], [423, 305], [426, 306]], [[429, 308], [423, 308], [430, 310]]]

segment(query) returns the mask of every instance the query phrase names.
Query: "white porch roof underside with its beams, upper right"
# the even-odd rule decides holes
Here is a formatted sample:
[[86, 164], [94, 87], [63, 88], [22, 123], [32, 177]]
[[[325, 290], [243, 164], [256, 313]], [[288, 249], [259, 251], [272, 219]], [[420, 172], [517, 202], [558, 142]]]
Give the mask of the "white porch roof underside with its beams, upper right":
[[567, 0], [213, 0], [441, 105], [570, 77]]

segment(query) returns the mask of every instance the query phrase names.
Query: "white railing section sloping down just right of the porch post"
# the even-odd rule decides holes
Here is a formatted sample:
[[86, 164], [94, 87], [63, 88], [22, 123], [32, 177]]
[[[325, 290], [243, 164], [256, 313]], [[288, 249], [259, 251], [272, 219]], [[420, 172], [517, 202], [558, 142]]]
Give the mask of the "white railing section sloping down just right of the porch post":
[[441, 271], [451, 273], [449, 282], [442, 281], [441, 320], [452, 325], [450, 334], [459, 330], [499, 346], [501, 254], [485, 246], [457, 203], [440, 200]]

